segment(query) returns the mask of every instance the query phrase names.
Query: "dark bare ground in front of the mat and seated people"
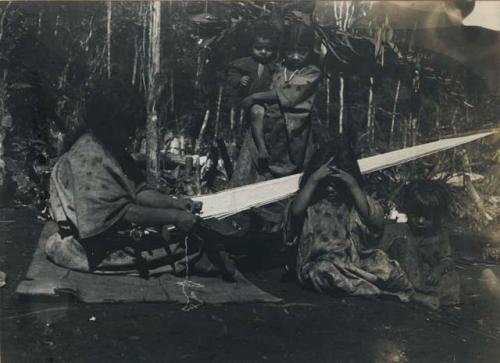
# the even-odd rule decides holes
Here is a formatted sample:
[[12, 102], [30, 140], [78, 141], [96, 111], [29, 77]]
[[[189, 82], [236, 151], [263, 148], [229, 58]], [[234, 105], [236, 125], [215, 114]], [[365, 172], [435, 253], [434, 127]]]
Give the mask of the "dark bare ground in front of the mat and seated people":
[[23, 300], [14, 291], [41, 228], [32, 210], [0, 209], [4, 363], [500, 362], [500, 299], [480, 279], [484, 265], [461, 265], [463, 303], [439, 312], [393, 300], [322, 296], [279, 282], [278, 269], [246, 275], [282, 304], [183, 312], [180, 304]]

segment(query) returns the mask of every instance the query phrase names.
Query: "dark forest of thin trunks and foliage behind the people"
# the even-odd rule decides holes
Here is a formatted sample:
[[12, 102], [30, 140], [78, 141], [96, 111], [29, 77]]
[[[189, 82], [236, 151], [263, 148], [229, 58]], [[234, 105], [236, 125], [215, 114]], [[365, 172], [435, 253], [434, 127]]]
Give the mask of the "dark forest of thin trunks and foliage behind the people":
[[[364, 157], [496, 128], [500, 36], [462, 24], [474, 6], [467, 0], [2, 2], [0, 204], [29, 205], [43, 217], [50, 170], [85, 120], [85, 96], [94, 81], [111, 75], [144, 95], [148, 126], [131, 151], [150, 163], [154, 183], [171, 193], [224, 188], [248, 127], [228, 92], [227, 65], [248, 54], [252, 26], [268, 21], [279, 28], [290, 13], [305, 14], [318, 36], [319, 139], [347, 138]], [[390, 207], [406, 182], [442, 180], [453, 195], [452, 223], [489, 227], [496, 238], [498, 146], [490, 138], [386, 169], [367, 178], [368, 189]], [[201, 172], [194, 166], [194, 176], [186, 172], [188, 155], [208, 160]], [[217, 168], [219, 158], [225, 163]]]

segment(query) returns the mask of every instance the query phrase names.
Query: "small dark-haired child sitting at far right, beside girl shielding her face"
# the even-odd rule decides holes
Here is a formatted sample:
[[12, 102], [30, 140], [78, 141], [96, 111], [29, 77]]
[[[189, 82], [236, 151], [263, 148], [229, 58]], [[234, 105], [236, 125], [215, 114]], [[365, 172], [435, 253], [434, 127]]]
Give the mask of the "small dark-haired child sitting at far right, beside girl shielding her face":
[[413, 182], [403, 190], [402, 204], [408, 222], [388, 225], [382, 247], [435, 308], [458, 304], [460, 280], [443, 229], [449, 205], [446, 187], [436, 181]]

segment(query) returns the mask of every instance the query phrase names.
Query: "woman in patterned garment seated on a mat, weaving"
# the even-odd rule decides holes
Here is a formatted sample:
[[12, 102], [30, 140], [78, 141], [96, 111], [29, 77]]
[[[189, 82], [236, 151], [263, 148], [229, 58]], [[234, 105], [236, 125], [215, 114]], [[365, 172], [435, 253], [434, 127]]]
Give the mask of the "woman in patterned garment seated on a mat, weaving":
[[[59, 228], [46, 240], [45, 252], [56, 264], [87, 272], [177, 274], [186, 263], [191, 271], [223, 271], [207, 258], [217, 253], [192, 237], [201, 204], [148, 188], [127, 152], [146, 119], [143, 99], [113, 79], [98, 84], [88, 97], [86, 128], [51, 174], [50, 212]], [[182, 238], [170, 238], [162, 229], [167, 225], [177, 227]], [[129, 233], [134, 227], [137, 233]], [[144, 231], [140, 227], [163, 233], [132, 238]]]

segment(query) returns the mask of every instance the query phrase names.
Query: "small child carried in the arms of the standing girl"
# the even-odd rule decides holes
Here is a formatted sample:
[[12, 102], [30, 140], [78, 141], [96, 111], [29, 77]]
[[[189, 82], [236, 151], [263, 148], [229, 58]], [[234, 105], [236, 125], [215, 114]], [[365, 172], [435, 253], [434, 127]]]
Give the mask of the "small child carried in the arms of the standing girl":
[[[277, 55], [278, 39], [276, 29], [267, 24], [257, 25], [253, 35], [252, 55], [230, 63], [229, 84], [240, 100], [250, 94], [269, 90], [273, 73], [277, 70], [273, 61]], [[264, 113], [264, 105], [257, 104], [249, 112], [260, 160], [267, 160], [269, 157], [262, 135]]]

